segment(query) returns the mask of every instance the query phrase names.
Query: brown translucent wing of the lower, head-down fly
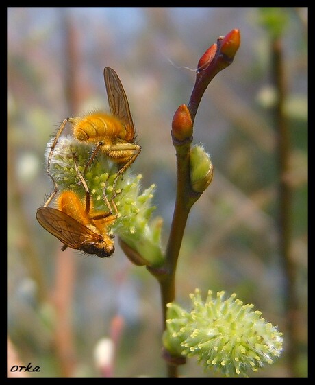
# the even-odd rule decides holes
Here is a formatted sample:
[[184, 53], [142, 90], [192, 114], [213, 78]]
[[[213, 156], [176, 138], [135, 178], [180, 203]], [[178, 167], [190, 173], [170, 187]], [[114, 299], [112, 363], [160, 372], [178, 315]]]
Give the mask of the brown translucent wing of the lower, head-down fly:
[[52, 207], [37, 209], [36, 218], [45, 230], [70, 248], [80, 249], [82, 244], [102, 240], [101, 235]]

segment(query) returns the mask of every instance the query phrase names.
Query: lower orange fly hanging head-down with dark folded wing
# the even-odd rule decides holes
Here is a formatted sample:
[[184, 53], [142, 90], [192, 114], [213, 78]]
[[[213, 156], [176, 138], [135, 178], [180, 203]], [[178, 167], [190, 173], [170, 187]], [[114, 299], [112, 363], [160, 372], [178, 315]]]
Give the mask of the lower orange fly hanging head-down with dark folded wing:
[[[58, 209], [47, 207], [51, 200], [49, 197], [45, 205], [37, 210], [36, 218], [45, 230], [64, 243], [63, 251], [70, 247], [87, 254], [96, 254], [100, 258], [109, 257], [114, 253], [115, 248], [114, 236], [109, 234], [108, 226], [113, 224], [118, 216], [116, 205], [112, 200], [116, 211], [112, 215], [110, 202], [103, 192], [103, 198], [109, 211], [106, 213], [93, 211], [88, 186], [78, 170], [74, 156], [73, 159], [81, 185], [86, 191], [85, 207], [74, 191], [62, 191], [57, 200]], [[56, 186], [55, 180], [53, 183]]]

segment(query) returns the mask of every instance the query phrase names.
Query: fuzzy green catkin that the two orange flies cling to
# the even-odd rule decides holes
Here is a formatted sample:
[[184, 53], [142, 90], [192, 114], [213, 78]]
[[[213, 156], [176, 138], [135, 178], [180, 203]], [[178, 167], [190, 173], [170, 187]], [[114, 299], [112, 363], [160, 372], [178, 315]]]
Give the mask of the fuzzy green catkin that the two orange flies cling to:
[[[51, 143], [47, 145], [47, 157], [50, 149]], [[81, 198], [86, 196], [86, 190], [78, 176], [75, 162], [77, 169], [82, 174], [93, 150], [94, 146], [89, 143], [82, 143], [70, 136], [60, 137], [53, 151], [49, 170], [59, 191], [71, 190]], [[135, 264], [158, 266], [162, 264], [164, 256], [160, 246], [162, 221], [160, 219], [151, 220], [151, 215], [155, 210], [152, 205], [155, 185], [142, 191], [140, 174], [132, 174], [129, 167], [123, 176], [116, 180], [117, 171], [117, 163], [112, 162], [108, 156], [99, 151], [84, 174], [84, 180], [90, 193], [91, 206], [94, 211], [100, 211], [100, 213], [108, 211], [103, 194], [105, 193], [109, 202], [114, 194], [118, 218], [110, 230], [120, 237], [128, 256], [131, 255], [131, 260], [134, 259]], [[114, 186], [115, 180], [116, 185]]]

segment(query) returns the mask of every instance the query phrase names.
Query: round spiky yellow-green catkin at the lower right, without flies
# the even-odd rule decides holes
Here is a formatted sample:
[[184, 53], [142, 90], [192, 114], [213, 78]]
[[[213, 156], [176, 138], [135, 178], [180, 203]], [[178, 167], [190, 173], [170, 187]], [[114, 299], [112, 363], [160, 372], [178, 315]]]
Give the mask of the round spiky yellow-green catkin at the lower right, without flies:
[[282, 334], [232, 294], [225, 292], [205, 302], [200, 292], [190, 294], [192, 310], [187, 312], [177, 303], [169, 303], [164, 347], [174, 355], [196, 357], [205, 369], [215, 369], [226, 377], [257, 371], [265, 363], [272, 364], [282, 351]]

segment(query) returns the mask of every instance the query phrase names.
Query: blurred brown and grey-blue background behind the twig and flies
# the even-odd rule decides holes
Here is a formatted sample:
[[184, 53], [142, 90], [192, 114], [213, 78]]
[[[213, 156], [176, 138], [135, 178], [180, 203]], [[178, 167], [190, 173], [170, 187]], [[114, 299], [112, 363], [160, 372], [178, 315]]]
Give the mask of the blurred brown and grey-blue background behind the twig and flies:
[[[157, 185], [164, 248], [175, 201], [173, 114], [188, 104], [204, 51], [238, 28], [234, 63], [210, 83], [194, 124], [194, 143], [210, 153], [214, 179], [190, 213], [177, 301], [188, 304], [194, 288], [204, 297], [208, 289], [236, 292], [283, 332], [281, 357], [249, 375], [307, 377], [307, 8], [277, 10], [280, 115], [279, 57], [260, 8], [7, 10], [8, 366], [40, 366], [9, 375], [166, 375], [157, 281], [117, 242], [108, 259], [62, 252], [36, 221], [52, 188], [44, 154], [65, 117], [108, 110], [103, 67], [115, 69], [142, 146], [132, 169], [144, 188]], [[279, 119], [288, 137], [284, 174]], [[289, 186], [284, 198], [279, 180]], [[101, 369], [99, 349], [109, 360]], [[179, 373], [216, 377], [194, 359]]]

